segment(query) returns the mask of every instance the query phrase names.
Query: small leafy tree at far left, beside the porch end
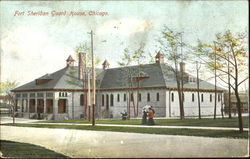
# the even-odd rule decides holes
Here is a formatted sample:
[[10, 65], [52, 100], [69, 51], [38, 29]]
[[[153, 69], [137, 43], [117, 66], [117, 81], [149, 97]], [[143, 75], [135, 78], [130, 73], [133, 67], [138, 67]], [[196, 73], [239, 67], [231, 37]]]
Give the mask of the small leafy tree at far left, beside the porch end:
[[16, 100], [15, 100], [15, 94], [13, 92], [11, 92], [12, 89], [16, 88], [18, 85], [18, 82], [16, 81], [6, 81], [6, 82], [1, 82], [0, 83], [0, 94], [3, 94], [5, 96], [8, 96], [8, 100], [9, 100], [9, 109], [10, 109], [10, 112], [12, 112], [12, 117], [13, 117], [13, 124], [15, 123], [15, 111], [16, 111]]

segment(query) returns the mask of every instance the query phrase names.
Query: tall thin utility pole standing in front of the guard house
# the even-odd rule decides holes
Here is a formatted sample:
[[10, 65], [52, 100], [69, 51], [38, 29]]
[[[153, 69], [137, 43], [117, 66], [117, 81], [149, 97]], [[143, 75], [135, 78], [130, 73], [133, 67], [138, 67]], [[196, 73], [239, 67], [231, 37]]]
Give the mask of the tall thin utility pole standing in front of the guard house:
[[94, 59], [94, 52], [93, 52], [93, 31], [91, 30], [91, 54], [92, 54], [92, 126], [95, 126], [95, 59]]

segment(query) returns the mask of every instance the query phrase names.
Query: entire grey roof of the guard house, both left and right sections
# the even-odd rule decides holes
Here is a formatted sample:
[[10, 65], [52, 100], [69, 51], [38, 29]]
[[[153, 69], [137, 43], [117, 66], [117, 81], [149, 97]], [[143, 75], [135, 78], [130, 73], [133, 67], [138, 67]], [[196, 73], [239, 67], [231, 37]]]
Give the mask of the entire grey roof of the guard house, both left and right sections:
[[[91, 72], [91, 68], [87, 68]], [[96, 87], [99, 89], [123, 89], [123, 88], [140, 88], [146, 87], [168, 87], [176, 88], [176, 78], [173, 68], [167, 64], [145, 64], [137, 66], [118, 67], [110, 69], [96, 69]], [[190, 77], [188, 73], [185, 77]], [[193, 77], [193, 76], [191, 76]], [[193, 77], [195, 78], [195, 77]], [[36, 84], [33, 80], [27, 84], [15, 88], [12, 91], [23, 90], [44, 90], [44, 89], [82, 89], [83, 82], [78, 79], [78, 66], [65, 67], [52, 74], [45, 74], [38, 80], [44, 80], [44, 83]], [[46, 80], [50, 79], [50, 80]], [[132, 79], [132, 80], [131, 80]], [[130, 82], [132, 81], [132, 82]], [[184, 88], [196, 89], [196, 82], [184, 80]], [[131, 86], [132, 85], [132, 86]], [[200, 89], [214, 90], [214, 85], [204, 80], [200, 80]], [[217, 90], [224, 90], [217, 87]]]

